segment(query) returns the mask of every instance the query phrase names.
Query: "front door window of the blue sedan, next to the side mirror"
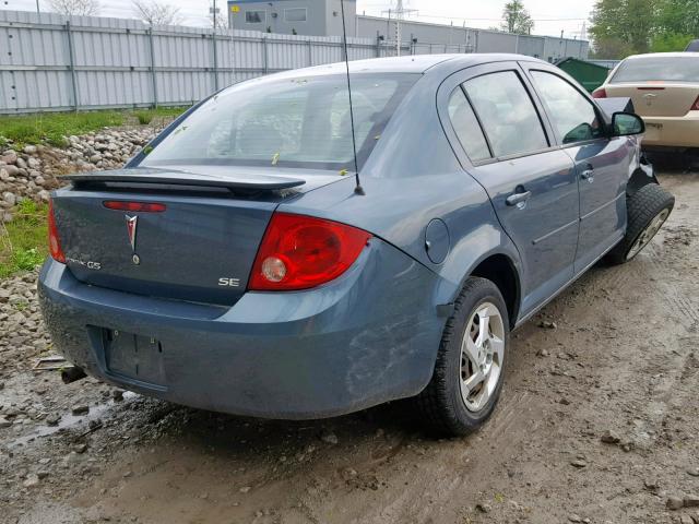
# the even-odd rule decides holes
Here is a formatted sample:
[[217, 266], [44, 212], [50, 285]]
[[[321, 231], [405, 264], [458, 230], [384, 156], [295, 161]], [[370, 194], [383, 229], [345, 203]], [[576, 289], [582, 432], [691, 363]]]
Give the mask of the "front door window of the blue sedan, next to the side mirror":
[[578, 90], [544, 71], [532, 71], [532, 78], [560, 142], [571, 144], [602, 135], [594, 107]]

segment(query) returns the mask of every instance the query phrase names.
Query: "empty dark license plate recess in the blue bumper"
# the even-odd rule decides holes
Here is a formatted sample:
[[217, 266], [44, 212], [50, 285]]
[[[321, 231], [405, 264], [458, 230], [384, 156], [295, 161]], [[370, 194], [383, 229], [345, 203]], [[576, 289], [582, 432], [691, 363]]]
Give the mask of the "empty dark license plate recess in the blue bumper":
[[107, 370], [127, 379], [165, 385], [164, 350], [152, 336], [103, 329]]

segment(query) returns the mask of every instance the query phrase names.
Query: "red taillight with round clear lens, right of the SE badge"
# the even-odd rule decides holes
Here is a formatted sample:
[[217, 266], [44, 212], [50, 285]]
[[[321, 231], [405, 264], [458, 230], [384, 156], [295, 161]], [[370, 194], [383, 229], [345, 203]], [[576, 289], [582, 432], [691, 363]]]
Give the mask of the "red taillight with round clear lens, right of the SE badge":
[[371, 235], [311, 216], [274, 213], [254, 259], [248, 288], [308, 289], [342, 275]]

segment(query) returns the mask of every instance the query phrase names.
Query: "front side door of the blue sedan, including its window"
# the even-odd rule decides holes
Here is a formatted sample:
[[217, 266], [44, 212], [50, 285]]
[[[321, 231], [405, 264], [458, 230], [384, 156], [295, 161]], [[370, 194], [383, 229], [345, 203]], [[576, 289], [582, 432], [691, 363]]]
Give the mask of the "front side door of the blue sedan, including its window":
[[576, 273], [584, 271], [624, 236], [626, 181], [638, 154], [626, 136], [609, 138], [590, 97], [554, 68], [525, 63], [554, 129], [576, 164], [580, 186], [580, 239]]

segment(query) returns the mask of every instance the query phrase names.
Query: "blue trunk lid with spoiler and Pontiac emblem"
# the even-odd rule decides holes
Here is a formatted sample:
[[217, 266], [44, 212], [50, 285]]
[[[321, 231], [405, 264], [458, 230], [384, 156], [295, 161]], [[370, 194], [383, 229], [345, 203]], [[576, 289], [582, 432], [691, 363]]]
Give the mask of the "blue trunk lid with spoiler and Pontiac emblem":
[[[132, 168], [67, 177], [72, 187], [58, 190], [52, 202], [73, 275], [127, 293], [233, 305], [245, 293], [276, 206], [342, 179], [298, 169], [199, 170]], [[159, 205], [143, 211], [143, 204]]]

